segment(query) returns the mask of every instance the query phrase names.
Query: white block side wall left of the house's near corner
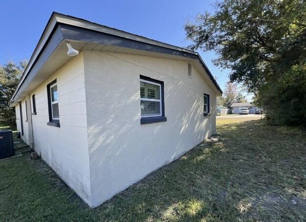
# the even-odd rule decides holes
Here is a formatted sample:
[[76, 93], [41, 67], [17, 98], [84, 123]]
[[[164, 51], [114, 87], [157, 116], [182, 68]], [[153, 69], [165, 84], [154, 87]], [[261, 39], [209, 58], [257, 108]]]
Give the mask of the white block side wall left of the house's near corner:
[[[60, 127], [48, 126], [47, 85], [57, 79]], [[30, 93], [34, 149], [88, 204], [91, 202], [83, 54], [73, 58]], [[33, 112], [31, 101], [31, 111]], [[24, 101], [22, 104], [25, 108]], [[16, 116], [19, 118], [19, 107]], [[25, 112], [24, 112], [25, 113]], [[25, 120], [25, 115], [23, 115]], [[18, 126], [17, 122], [17, 126]], [[27, 128], [24, 124], [24, 131]]]

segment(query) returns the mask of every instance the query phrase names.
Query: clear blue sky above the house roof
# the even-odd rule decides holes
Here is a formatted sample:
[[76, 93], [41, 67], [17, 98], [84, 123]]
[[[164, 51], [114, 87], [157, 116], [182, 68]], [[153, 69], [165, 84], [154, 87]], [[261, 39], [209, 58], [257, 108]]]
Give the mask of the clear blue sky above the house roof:
[[[83, 18], [186, 47], [183, 24], [212, 11], [214, 0], [3, 0], [0, 5], [0, 64], [29, 60], [52, 11]], [[222, 89], [229, 70], [215, 67], [213, 52], [199, 51]]]

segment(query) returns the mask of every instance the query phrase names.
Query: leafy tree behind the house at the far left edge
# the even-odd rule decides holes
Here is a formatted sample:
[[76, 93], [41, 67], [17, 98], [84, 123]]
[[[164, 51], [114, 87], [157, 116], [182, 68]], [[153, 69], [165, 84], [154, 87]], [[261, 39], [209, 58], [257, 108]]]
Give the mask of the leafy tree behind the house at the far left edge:
[[15, 109], [9, 108], [8, 102], [18, 85], [26, 64], [25, 61], [20, 62], [19, 65], [8, 62], [0, 67], [0, 121], [10, 126], [15, 124]]

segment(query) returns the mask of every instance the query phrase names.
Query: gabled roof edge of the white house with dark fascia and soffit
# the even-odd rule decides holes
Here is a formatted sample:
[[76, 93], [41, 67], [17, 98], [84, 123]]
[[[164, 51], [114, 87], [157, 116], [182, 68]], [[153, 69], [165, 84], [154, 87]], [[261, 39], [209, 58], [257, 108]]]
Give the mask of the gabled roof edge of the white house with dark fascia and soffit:
[[[129, 52], [127, 53], [130, 54], [143, 54], [140, 51], [145, 51], [146, 53], [151, 53], [148, 55], [168, 56], [169, 58], [193, 62], [197, 69], [202, 68], [207, 73], [208, 79], [217, 91], [216, 94], [222, 94], [221, 88], [197, 52], [53, 12], [10, 100], [11, 106], [20, 101], [26, 93], [30, 93], [31, 90], [41, 84], [44, 77], [47, 77], [52, 71], [63, 66], [71, 59], [71, 57], [62, 53], [64, 51], [62, 45], [66, 41], [72, 43], [79, 51], [83, 49], [92, 50], [95, 48], [92, 44], [98, 45], [101, 50], [107, 45], [112, 48], [120, 48], [120, 51], [128, 49]], [[50, 61], [52, 59], [56, 61], [56, 66], [51, 64]], [[201, 70], [198, 71], [201, 72]], [[39, 78], [38, 75], [40, 75]], [[206, 80], [208, 81], [208, 79]]]

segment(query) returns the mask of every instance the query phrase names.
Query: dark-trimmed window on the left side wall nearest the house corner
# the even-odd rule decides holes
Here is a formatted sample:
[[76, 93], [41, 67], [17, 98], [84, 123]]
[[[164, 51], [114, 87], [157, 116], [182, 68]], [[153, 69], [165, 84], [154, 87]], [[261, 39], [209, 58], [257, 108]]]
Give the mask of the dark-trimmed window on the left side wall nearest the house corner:
[[58, 93], [56, 79], [47, 85], [49, 126], [60, 127], [58, 111]]

